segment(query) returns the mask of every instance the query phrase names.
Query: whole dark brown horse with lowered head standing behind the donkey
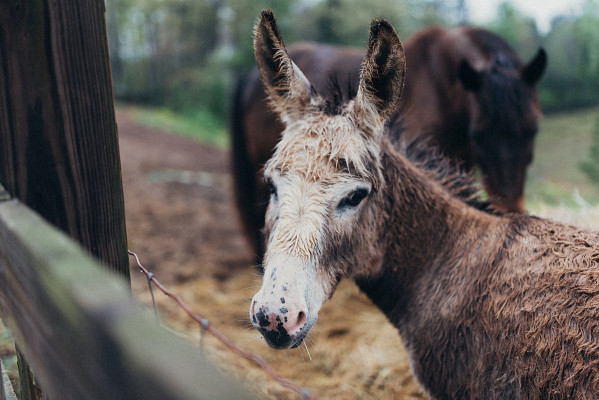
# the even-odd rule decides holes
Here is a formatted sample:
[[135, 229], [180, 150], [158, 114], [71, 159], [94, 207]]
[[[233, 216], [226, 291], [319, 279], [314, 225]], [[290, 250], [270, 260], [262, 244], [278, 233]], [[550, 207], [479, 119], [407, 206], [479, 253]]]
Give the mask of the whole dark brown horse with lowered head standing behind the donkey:
[[[534, 85], [545, 68], [545, 52], [523, 65], [500, 37], [478, 28], [430, 28], [409, 39], [405, 51], [409, 72], [391, 118], [393, 134], [404, 125], [409, 139], [428, 136], [466, 169], [478, 164], [496, 206], [523, 211], [540, 112]], [[331, 77], [344, 97], [357, 87], [363, 50], [300, 43], [289, 46], [289, 54], [318, 93], [329, 93]], [[231, 134], [237, 206], [258, 262], [269, 196], [261, 168], [282, 131], [254, 70], [234, 97]]]

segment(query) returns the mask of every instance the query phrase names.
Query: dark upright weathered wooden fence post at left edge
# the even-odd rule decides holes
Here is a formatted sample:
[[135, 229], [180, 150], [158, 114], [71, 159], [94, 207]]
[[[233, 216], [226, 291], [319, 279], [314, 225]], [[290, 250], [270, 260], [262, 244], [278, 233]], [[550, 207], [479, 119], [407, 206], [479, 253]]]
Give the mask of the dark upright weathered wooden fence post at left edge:
[[104, 13], [102, 0], [0, 3], [0, 182], [128, 279]]

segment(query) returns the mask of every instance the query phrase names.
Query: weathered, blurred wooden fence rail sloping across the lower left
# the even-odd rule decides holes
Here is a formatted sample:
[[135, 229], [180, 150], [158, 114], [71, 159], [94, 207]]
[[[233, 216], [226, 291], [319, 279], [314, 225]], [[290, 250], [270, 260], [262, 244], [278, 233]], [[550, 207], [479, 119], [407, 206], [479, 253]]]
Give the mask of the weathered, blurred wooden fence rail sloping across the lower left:
[[1, 186], [0, 317], [52, 400], [252, 397]]

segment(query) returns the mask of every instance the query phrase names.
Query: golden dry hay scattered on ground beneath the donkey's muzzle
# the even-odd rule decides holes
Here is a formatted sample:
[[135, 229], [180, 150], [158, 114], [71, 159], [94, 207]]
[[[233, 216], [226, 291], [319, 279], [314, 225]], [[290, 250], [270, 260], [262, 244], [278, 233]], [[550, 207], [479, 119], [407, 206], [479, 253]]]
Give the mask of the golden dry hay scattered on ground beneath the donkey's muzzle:
[[[280, 374], [310, 389], [320, 398], [418, 399], [407, 356], [397, 330], [370, 301], [348, 281], [321, 310], [319, 321], [307, 339], [307, 348], [270, 349], [251, 326], [249, 302], [260, 277], [251, 270], [225, 281], [197, 278], [171, 285], [194, 310], [245, 350], [264, 357]], [[150, 306], [146, 281], [136, 278], [134, 290]], [[164, 296], [157, 296], [160, 315], [192, 343], [217, 360], [262, 398], [297, 398], [280, 387], [250, 362], [238, 358], [210, 336], [201, 339], [201, 328]]]

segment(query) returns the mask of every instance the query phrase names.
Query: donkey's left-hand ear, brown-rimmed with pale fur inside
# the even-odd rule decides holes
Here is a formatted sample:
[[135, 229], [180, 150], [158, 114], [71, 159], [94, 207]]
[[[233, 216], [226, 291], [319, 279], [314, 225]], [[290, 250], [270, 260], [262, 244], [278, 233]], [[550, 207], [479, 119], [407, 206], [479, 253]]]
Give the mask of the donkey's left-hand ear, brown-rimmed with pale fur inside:
[[262, 11], [256, 25], [254, 54], [275, 109], [285, 122], [299, 118], [310, 103], [312, 85], [287, 54], [271, 10]]

